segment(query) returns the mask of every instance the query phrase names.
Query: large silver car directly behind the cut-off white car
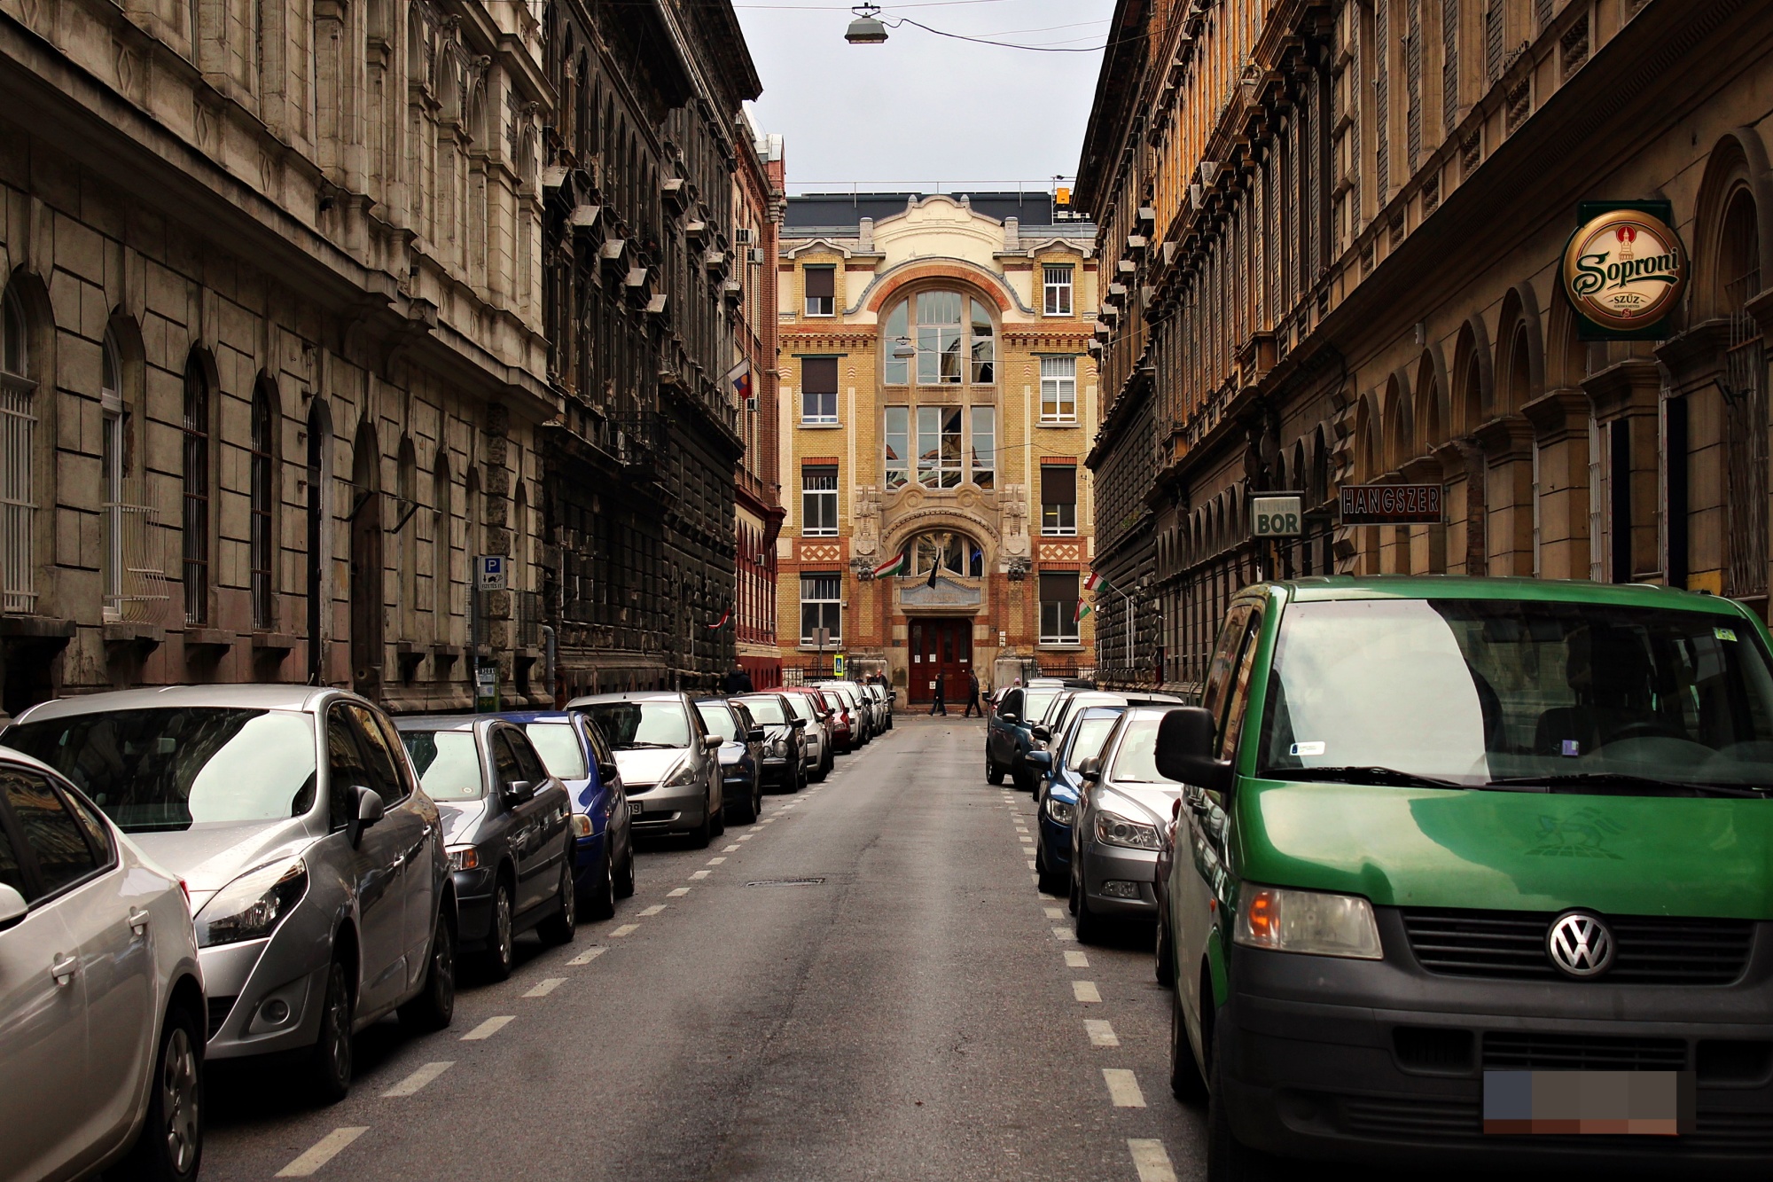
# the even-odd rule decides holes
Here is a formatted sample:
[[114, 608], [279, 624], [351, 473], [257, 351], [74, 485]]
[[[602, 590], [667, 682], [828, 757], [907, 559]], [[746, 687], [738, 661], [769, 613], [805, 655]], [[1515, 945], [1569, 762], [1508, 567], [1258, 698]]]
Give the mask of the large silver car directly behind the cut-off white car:
[[324, 1100], [351, 1035], [456, 1005], [456, 896], [438, 808], [356, 694], [181, 685], [32, 706], [0, 742], [71, 779], [184, 879], [211, 1060], [289, 1051]]

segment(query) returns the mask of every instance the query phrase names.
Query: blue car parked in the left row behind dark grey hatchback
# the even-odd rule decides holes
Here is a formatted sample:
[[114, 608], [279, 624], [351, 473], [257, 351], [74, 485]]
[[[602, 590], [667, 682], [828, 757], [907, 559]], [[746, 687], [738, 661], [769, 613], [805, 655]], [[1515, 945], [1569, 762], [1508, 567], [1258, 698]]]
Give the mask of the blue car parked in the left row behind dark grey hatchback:
[[592, 919], [608, 919], [615, 900], [635, 893], [635, 838], [615, 753], [598, 724], [580, 712], [512, 710], [496, 717], [523, 728], [573, 797], [578, 905]]

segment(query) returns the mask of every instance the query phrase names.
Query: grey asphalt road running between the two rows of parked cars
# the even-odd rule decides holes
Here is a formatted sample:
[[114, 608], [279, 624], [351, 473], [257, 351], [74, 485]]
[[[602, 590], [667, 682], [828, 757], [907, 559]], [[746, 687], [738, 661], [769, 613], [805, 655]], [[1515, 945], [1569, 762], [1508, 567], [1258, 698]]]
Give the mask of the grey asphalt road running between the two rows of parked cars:
[[979, 721], [901, 715], [826, 784], [358, 1036], [344, 1102], [211, 1074], [206, 1178], [1199, 1178], [1142, 939], [1080, 950]]

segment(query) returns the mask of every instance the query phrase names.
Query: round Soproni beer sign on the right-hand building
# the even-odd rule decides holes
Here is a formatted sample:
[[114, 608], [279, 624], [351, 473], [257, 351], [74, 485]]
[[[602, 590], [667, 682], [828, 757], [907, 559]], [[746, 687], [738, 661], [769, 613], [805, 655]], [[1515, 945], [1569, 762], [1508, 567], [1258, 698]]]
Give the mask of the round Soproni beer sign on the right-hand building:
[[1654, 325], [1684, 289], [1681, 238], [1642, 209], [1613, 209], [1585, 222], [1564, 250], [1564, 291], [1601, 328]]

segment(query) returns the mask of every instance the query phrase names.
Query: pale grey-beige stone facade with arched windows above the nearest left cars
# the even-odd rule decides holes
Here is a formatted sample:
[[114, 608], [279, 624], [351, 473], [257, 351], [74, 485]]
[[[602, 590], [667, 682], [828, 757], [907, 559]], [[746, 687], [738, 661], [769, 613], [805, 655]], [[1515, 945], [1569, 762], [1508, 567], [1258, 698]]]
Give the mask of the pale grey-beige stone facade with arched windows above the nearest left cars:
[[[433, 710], [479, 660], [539, 701], [530, 7], [0, 11], [5, 706], [314, 680]], [[509, 591], [470, 593], [477, 554]]]

